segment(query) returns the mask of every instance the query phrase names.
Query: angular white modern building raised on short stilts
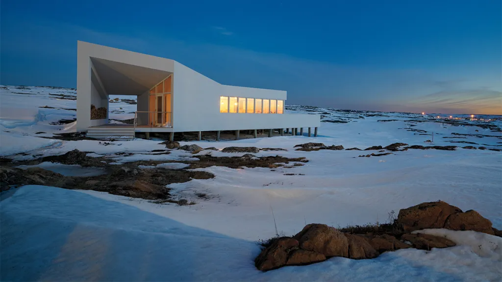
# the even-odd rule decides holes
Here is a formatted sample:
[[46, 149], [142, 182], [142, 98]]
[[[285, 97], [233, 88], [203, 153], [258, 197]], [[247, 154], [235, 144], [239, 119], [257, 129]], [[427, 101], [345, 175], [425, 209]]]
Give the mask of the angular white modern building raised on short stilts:
[[[138, 96], [134, 124], [108, 123], [109, 95]], [[223, 85], [174, 60], [78, 41], [77, 130], [90, 136], [223, 130], [256, 136], [256, 129], [281, 128], [310, 134], [312, 127], [317, 135], [320, 116], [285, 114], [286, 99], [286, 91]]]

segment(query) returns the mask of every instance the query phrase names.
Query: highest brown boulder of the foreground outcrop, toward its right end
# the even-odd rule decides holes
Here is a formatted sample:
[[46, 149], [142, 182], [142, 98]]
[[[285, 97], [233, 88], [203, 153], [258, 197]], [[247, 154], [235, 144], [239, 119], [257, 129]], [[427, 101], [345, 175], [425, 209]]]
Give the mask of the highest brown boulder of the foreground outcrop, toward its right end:
[[448, 216], [457, 212], [462, 212], [462, 210], [443, 201], [421, 203], [400, 210], [397, 223], [405, 232], [425, 228], [443, 228]]

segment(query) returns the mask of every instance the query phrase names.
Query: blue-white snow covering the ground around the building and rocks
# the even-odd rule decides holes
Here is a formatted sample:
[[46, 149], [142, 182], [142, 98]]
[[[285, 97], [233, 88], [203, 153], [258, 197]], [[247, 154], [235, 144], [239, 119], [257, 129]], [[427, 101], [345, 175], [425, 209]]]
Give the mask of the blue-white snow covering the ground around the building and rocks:
[[[94, 140], [41, 138], [75, 130], [73, 122], [51, 124], [75, 118], [75, 111], [71, 110], [76, 108], [76, 101], [72, 99], [75, 90], [24, 88], [27, 89], [14, 86], [0, 89], [0, 155], [3, 157], [27, 160], [78, 149], [94, 152], [90, 156], [113, 158], [118, 164], [137, 160], [193, 160], [193, 156], [184, 151], [152, 155], [149, 151], [165, 149], [154, 140], [117, 141], [104, 146]], [[119, 100], [110, 103], [110, 107], [111, 111], [116, 110], [110, 112], [110, 118], [125, 119], [132, 118], [128, 112], [133, 112], [136, 105]], [[332, 258], [309, 266], [258, 271], [253, 259], [260, 248], [255, 241], [275, 235], [272, 211], [278, 231], [292, 235], [305, 223], [343, 227], [386, 222], [392, 210], [398, 213], [399, 209], [421, 202], [443, 200], [464, 211], [474, 209], [490, 219], [494, 227], [502, 228], [502, 153], [461, 148], [502, 149], [502, 135], [495, 128], [502, 124], [500, 116], [476, 116], [490, 120], [471, 121], [465, 119], [469, 117], [466, 115], [452, 115], [462, 119], [447, 120], [449, 115], [437, 118], [437, 114], [301, 106], [290, 106], [288, 111], [322, 114], [325, 122], [319, 128], [319, 136], [183, 143], [218, 149], [229, 146], [283, 148], [288, 151], [261, 151], [256, 156], [281, 155], [309, 160], [304, 166], [294, 168], [210, 167], [201, 170], [213, 173], [216, 176], [213, 179], [170, 185], [173, 193], [195, 201], [195, 205], [154, 204], [96, 191], [44, 186], [8, 191], [10, 197], [3, 197], [0, 202], [1, 279], [502, 279], [500, 238], [460, 231], [447, 234], [459, 244], [448, 249], [407, 249], [371, 260]], [[479, 126], [472, 126], [476, 124]], [[40, 131], [45, 133], [38, 133]], [[360, 149], [395, 142], [429, 146], [425, 141], [432, 138], [434, 145], [459, 148], [456, 151], [408, 150], [370, 158], [358, 156], [376, 151], [293, 149], [307, 142]], [[199, 154], [209, 153], [242, 155], [213, 151]], [[182, 168], [181, 164], [165, 166]], [[200, 193], [206, 196], [200, 198], [196, 195]]]

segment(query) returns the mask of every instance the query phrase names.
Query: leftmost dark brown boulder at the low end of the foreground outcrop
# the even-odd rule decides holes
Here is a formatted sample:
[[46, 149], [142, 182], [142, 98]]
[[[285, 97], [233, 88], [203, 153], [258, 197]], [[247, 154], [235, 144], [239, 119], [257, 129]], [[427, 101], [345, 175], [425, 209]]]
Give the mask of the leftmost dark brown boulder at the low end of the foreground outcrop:
[[262, 252], [255, 259], [256, 268], [268, 271], [286, 265], [288, 254], [292, 248], [298, 247], [298, 241], [290, 238], [279, 238]]

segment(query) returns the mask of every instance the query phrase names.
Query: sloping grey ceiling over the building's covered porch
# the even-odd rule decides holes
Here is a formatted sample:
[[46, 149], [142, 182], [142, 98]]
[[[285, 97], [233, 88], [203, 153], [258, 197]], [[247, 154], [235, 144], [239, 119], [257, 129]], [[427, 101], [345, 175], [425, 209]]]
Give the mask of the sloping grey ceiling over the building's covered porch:
[[91, 61], [109, 95], [141, 95], [171, 74], [104, 59]]

